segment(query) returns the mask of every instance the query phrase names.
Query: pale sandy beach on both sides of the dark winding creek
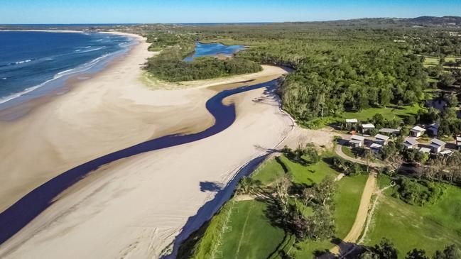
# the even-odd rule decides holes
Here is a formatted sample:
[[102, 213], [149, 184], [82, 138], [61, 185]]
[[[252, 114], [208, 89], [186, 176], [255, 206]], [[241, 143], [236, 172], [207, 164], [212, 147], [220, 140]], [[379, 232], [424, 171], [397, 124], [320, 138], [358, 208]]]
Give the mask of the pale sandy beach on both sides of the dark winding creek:
[[[285, 73], [264, 66], [259, 73], [179, 84], [174, 90], [146, 86], [141, 66], [154, 53], [136, 37], [139, 44], [107, 69], [72, 81], [69, 92], [18, 119], [0, 121], [1, 211], [82, 162], [169, 133], [201, 131], [214, 123], [205, 102], [219, 89]], [[214, 197], [216, 190], [206, 186], [226, 184], [239, 167], [291, 131], [291, 119], [264, 89], [229, 99], [237, 105], [237, 120], [225, 131], [92, 172], [2, 244], [0, 257], [157, 258]]]

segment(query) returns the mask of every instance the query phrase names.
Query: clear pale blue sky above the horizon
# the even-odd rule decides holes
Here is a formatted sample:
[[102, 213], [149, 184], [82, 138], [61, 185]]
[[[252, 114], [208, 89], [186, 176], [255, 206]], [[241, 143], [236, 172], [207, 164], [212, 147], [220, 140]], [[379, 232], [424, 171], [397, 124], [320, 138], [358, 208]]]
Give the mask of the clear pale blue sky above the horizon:
[[0, 23], [207, 23], [461, 16], [461, 0], [0, 0]]

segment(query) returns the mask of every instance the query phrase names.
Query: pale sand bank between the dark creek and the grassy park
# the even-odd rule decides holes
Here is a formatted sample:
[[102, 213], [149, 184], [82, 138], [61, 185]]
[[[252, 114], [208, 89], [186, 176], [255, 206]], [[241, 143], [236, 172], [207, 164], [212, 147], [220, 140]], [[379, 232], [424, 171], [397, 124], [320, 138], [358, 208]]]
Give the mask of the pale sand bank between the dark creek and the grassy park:
[[0, 256], [158, 258], [240, 166], [291, 130], [271, 97], [261, 101], [263, 91], [234, 97], [237, 120], [215, 136], [93, 172], [4, 243]]

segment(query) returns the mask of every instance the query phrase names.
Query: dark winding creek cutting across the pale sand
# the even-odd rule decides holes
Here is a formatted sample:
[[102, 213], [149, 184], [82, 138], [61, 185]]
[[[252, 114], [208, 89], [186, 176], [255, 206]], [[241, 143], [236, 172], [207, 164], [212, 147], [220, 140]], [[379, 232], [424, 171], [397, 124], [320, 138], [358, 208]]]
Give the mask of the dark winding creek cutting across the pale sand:
[[16, 203], [9, 206], [0, 214], [0, 244], [9, 240], [18, 231], [21, 231], [29, 222], [36, 218], [40, 213], [53, 204], [53, 199], [65, 191], [68, 187], [72, 186], [82, 178], [86, 177], [90, 172], [97, 170], [102, 165], [110, 162], [128, 158], [133, 155], [138, 155], [153, 150], [160, 150], [163, 148], [170, 148], [176, 145], [191, 143], [203, 138], [213, 136], [234, 123], [236, 119], [236, 111], [234, 104], [225, 105], [222, 100], [226, 97], [242, 92], [251, 91], [263, 87], [270, 87], [275, 89], [278, 84], [278, 79], [261, 84], [254, 84], [250, 86], [239, 87], [236, 89], [227, 89], [219, 92], [214, 97], [208, 99], [206, 109], [215, 118], [215, 124], [205, 131], [192, 133], [187, 135], [173, 134], [147, 140], [143, 143], [133, 145], [114, 153], [109, 153], [102, 157], [78, 165], [70, 170], [67, 170], [53, 179], [45, 182], [36, 189], [26, 194], [26, 196], [19, 199]]

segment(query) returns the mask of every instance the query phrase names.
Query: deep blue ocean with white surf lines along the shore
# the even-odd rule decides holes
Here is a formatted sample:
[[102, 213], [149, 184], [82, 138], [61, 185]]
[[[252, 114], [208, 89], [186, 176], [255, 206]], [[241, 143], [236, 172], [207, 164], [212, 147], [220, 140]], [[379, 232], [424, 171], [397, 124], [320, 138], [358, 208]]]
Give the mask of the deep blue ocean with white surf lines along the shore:
[[106, 33], [0, 31], [0, 104], [87, 72], [129, 45]]

